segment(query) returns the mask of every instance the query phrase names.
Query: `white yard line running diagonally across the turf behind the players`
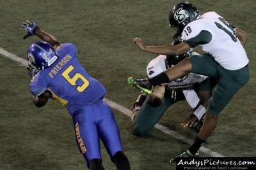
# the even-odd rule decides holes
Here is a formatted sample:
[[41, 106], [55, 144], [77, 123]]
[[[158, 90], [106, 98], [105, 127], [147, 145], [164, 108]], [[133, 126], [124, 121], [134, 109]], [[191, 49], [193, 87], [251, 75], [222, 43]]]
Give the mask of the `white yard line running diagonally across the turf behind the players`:
[[[1, 47], [0, 47], [0, 54], [3, 55], [4, 57], [7, 57], [9, 59], [12, 59], [12, 60], [15, 60], [15, 61], [21, 63], [23, 66], [28, 66], [28, 62], [26, 60], [18, 57], [17, 55], [15, 55], [13, 53], [10, 53], [10, 52], [4, 50]], [[113, 101], [110, 101], [109, 99], [105, 98], [104, 101], [106, 101], [106, 103], [108, 103], [109, 106], [111, 106], [111, 108], [114, 108], [114, 109], [120, 111], [121, 113], [124, 113], [124, 115], [127, 115], [128, 117], [131, 117], [131, 115], [132, 115], [131, 110], [129, 110], [129, 109], [125, 108], [124, 106], [121, 106], [121, 105], [119, 105], [119, 104], [117, 104]], [[164, 127], [163, 125], [156, 124], [155, 128], [159, 129], [159, 131], [164, 132], [165, 134], [168, 134], [170, 136], [173, 136], [174, 138], [179, 139], [180, 141], [184, 141], [184, 142], [189, 143], [189, 144], [193, 143], [193, 140], [188, 139], [188, 138], [180, 135], [179, 133], [168, 129], [167, 127]], [[220, 153], [214, 152], [211, 149], [206, 148], [204, 146], [202, 146], [200, 148], [200, 151], [211, 155], [211, 157], [224, 157]]]

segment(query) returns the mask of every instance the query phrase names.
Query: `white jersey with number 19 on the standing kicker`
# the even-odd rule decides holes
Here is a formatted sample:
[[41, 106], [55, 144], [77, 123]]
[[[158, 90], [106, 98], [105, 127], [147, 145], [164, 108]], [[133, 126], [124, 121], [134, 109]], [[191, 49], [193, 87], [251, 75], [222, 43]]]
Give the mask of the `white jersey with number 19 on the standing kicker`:
[[208, 52], [225, 69], [237, 70], [249, 62], [241, 42], [236, 37], [234, 29], [217, 13], [204, 13], [202, 18], [190, 22], [182, 32], [184, 41], [198, 36], [201, 31], [209, 31], [212, 39], [205, 45], [199, 45]]

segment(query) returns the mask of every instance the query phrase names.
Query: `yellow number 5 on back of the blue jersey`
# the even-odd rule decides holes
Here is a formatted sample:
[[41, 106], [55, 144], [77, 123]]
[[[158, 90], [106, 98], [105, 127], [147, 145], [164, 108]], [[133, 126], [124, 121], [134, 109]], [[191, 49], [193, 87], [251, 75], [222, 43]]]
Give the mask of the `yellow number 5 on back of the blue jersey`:
[[61, 76], [63, 76], [67, 81], [68, 83], [70, 83], [71, 85], [76, 85], [76, 81], [78, 79], [82, 80], [84, 83], [83, 85], [80, 85], [76, 88], [76, 90], [78, 92], [83, 92], [86, 87], [88, 87], [89, 85], [89, 81], [84, 78], [84, 76], [80, 73], [76, 73], [72, 78], [68, 75], [72, 70], [74, 69], [74, 67], [72, 65], [68, 66], [67, 69], [65, 69], [65, 71], [63, 71], [63, 73], [61, 73]]

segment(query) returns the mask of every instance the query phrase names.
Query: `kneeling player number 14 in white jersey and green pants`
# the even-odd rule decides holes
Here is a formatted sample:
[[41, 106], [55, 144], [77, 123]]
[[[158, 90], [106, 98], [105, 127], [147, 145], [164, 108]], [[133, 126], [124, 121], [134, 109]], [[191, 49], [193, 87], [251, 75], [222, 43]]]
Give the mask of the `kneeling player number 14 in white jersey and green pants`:
[[[159, 55], [148, 63], [148, 77], [156, 76], [169, 67], [175, 66], [191, 54], [198, 53], [189, 50], [184, 55]], [[188, 73], [175, 81], [157, 86], [152, 94], [148, 96], [141, 94], [134, 103], [131, 117], [132, 134], [147, 136], [166, 110], [172, 104], [182, 100], [186, 100], [189, 106], [194, 109], [194, 112], [186, 118], [186, 124], [199, 132], [210, 96], [211, 85], [208, 76], [195, 73]]]

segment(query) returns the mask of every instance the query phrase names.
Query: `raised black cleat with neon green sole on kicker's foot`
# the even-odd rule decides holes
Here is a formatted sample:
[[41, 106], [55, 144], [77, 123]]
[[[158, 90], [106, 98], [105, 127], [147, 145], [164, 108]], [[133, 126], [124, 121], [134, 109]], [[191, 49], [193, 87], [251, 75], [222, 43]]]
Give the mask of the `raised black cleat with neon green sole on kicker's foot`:
[[150, 85], [150, 82], [147, 80], [147, 78], [136, 79], [136, 78], [129, 77], [128, 83], [133, 87], [140, 89], [141, 92], [143, 92], [144, 94], [152, 94], [153, 92], [153, 86]]

